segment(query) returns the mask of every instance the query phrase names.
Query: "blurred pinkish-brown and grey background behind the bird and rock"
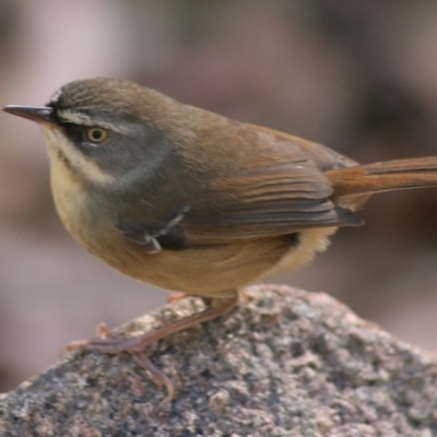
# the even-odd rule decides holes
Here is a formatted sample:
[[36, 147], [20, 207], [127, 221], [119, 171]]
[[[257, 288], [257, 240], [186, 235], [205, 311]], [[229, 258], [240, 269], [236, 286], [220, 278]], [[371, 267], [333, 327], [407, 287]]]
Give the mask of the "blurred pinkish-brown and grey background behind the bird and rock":
[[[0, 105], [62, 84], [138, 81], [359, 162], [437, 154], [434, 0], [0, 0]], [[54, 211], [37, 126], [0, 114], [0, 390], [61, 345], [162, 305], [113, 272]], [[424, 350], [437, 347], [437, 190], [375, 197], [367, 224], [281, 281], [326, 291]]]

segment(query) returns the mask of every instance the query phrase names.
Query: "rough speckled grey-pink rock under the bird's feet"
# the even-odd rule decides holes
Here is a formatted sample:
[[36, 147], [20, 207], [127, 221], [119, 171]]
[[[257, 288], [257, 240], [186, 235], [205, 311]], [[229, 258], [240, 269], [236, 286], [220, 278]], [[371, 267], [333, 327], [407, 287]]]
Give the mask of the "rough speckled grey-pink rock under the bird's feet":
[[[200, 307], [187, 298], [120, 332]], [[147, 352], [173, 402], [128, 355], [70, 355], [0, 397], [0, 435], [437, 435], [437, 359], [324, 294], [251, 287], [231, 315]]]

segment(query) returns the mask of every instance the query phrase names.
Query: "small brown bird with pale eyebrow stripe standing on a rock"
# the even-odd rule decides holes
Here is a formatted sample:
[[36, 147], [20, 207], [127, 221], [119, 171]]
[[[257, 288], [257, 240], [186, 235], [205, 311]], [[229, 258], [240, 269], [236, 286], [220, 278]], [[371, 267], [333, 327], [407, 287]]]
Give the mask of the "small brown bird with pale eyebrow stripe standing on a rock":
[[437, 156], [358, 165], [116, 79], [71, 82], [46, 106], [4, 110], [43, 127], [55, 203], [79, 244], [129, 276], [208, 303], [154, 332], [70, 350], [140, 353], [224, 315], [238, 288], [307, 264], [338, 227], [362, 224], [355, 211], [369, 194], [437, 186]]

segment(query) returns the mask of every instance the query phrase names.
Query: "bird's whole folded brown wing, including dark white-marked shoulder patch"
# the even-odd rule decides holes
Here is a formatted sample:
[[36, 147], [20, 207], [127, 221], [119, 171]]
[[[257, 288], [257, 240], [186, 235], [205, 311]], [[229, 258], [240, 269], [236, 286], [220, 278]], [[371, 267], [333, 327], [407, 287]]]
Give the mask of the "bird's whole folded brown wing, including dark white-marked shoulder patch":
[[167, 192], [160, 192], [153, 209], [126, 216], [120, 232], [155, 251], [362, 223], [330, 200], [333, 189], [324, 175], [353, 162], [345, 165], [343, 156], [327, 147], [265, 132], [256, 147], [238, 160], [229, 157], [229, 168], [191, 196], [162, 187]]

